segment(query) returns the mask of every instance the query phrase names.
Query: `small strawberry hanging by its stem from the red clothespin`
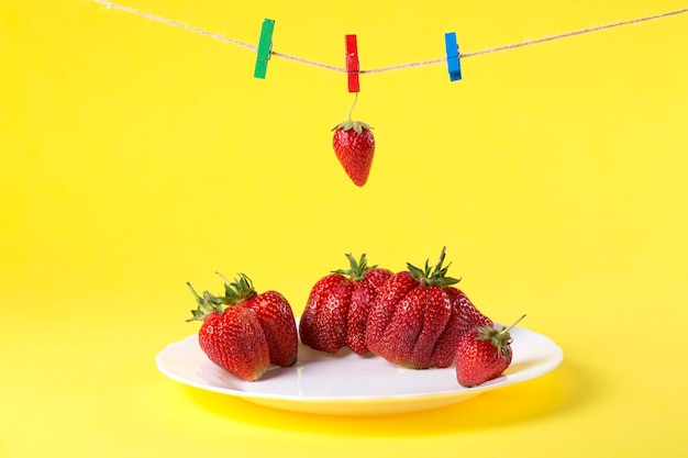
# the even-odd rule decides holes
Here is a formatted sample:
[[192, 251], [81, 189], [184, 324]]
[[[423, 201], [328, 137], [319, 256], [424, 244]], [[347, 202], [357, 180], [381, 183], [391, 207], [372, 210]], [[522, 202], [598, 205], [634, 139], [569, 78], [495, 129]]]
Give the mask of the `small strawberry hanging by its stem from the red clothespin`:
[[364, 186], [368, 181], [373, 157], [375, 156], [375, 136], [371, 127], [360, 121], [348, 121], [336, 125], [332, 146], [344, 171], [354, 185]]

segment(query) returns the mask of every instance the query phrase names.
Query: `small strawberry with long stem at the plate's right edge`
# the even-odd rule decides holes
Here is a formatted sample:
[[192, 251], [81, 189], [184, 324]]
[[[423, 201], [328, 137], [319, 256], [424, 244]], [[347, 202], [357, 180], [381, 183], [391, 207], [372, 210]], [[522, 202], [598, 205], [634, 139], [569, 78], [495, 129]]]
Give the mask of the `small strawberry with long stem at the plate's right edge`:
[[493, 380], [511, 365], [511, 335], [509, 327], [496, 329], [492, 325], [475, 326], [462, 334], [456, 349], [456, 380], [464, 387], [475, 387]]

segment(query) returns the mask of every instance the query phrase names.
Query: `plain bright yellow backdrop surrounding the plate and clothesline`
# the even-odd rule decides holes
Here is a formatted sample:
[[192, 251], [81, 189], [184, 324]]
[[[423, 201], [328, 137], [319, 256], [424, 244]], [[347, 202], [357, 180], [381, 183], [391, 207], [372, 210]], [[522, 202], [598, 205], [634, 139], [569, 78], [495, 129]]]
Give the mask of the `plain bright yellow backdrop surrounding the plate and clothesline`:
[[[124, 0], [122, 0], [124, 1]], [[435, 4], [429, 4], [435, 3]], [[686, 8], [685, 1], [130, 7], [363, 68]], [[403, 3], [409, 4], [409, 3]], [[688, 14], [445, 66], [364, 75], [368, 185], [330, 129], [343, 74], [87, 0], [0, 2], [0, 456], [687, 456]], [[154, 356], [196, 332], [185, 282], [244, 271], [300, 314], [368, 253], [443, 245], [488, 315], [557, 342], [541, 379], [387, 417], [273, 411], [186, 388]]]

